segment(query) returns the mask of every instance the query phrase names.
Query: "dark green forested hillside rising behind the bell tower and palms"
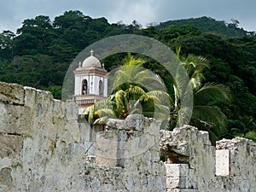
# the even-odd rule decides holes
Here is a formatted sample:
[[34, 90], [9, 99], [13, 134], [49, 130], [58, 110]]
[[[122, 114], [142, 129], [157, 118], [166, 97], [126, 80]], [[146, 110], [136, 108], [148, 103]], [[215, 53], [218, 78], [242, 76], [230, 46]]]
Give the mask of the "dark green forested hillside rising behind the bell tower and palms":
[[[205, 82], [226, 84], [232, 93], [232, 102], [221, 105], [228, 117], [223, 137], [256, 138], [256, 35], [233, 21], [226, 24], [202, 17], [141, 29], [137, 21], [109, 24], [105, 18], [93, 19], [79, 11], [67, 11], [54, 20], [38, 15], [24, 20], [17, 32], [0, 34], [0, 80], [50, 90], [60, 98], [67, 67], [82, 49], [105, 37], [140, 34], [160, 40], [174, 51], [181, 46], [182, 55], [205, 56], [210, 65]], [[118, 66], [123, 56], [107, 58], [107, 70]], [[164, 69], [154, 61], [148, 60], [144, 67], [159, 73], [166, 86], [172, 87]]]

